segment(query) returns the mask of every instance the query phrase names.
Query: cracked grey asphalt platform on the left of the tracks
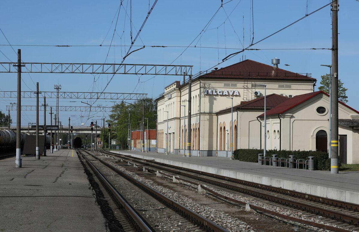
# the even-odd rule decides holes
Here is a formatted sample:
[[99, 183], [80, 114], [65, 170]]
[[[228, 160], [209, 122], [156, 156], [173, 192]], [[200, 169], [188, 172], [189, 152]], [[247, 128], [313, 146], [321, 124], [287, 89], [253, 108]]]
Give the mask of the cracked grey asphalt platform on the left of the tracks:
[[0, 160], [0, 231], [108, 231], [75, 150]]

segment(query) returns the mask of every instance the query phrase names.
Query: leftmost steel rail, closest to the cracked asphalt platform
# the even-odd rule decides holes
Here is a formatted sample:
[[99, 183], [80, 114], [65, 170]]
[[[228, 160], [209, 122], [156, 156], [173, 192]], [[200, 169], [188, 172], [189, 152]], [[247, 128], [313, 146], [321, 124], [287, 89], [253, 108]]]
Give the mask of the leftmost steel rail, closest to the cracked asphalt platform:
[[101, 174], [101, 172], [85, 157], [81, 152], [79, 152], [86, 160], [86, 163], [95, 173], [95, 175], [102, 182], [105, 189], [108, 190], [112, 199], [117, 203], [118, 207], [124, 212], [125, 217], [128, 219], [130, 224], [135, 227], [137, 231], [143, 232], [152, 232], [152, 230], [146, 225], [146, 223], [141, 219], [141, 217], [135, 212], [134, 209], [122, 198], [122, 196], [117, 192], [117, 190], [108, 182], [108, 180]]

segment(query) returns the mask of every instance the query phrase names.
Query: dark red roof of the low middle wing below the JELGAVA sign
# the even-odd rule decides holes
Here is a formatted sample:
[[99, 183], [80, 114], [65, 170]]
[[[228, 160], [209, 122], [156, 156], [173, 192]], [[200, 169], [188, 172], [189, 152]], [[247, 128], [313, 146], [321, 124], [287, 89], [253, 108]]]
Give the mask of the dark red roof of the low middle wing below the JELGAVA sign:
[[[287, 101], [289, 98], [288, 97], [284, 97], [284, 96], [280, 96], [278, 94], [270, 94], [266, 96], [266, 108], [270, 109], [270, 108], [274, 108], [276, 106], [278, 106], [279, 104], [281, 104], [282, 102]], [[263, 97], [258, 97], [256, 99], [253, 99], [251, 101], [242, 101], [240, 105], [237, 106], [233, 106], [233, 109], [264, 109], [264, 96]], [[226, 108], [224, 110], [220, 110], [217, 113], [223, 113], [223, 112], [227, 112], [230, 111], [231, 108]]]

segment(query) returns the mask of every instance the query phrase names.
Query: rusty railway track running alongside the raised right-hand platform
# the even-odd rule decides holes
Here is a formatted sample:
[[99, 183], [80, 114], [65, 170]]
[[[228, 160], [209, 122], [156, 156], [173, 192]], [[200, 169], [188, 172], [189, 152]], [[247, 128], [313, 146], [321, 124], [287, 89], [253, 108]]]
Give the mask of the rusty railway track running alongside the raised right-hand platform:
[[[259, 201], [261, 203], [275, 203], [278, 205], [285, 205], [286, 207], [290, 207], [292, 209], [294, 208], [296, 210], [302, 210], [302, 214], [306, 215], [307, 218], [317, 217], [320, 218], [322, 222], [331, 223], [333, 225], [339, 226], [340, 228], [328, 228], [328, 226], [325, 226], [323, 224], [309, 222], [302, 219], [298, 220], [296, 218], [291, 218], [286, 215], [276, 215], [282, 218], [284, 217], [286, 219], [290, 219], [292, 221], [309, 224], [311, 226], [316, 226], [319, 228], [331, 229], [332, 231], [338, 232], [359, 230], [359, 205], [357, 204], [328, 198], [320, 198], [318, 196], [303, 194], [301, 192], [256, 184], [253, 182], [242, 181], [230, 177], [215, 175], [212, 173], [191, 170], [188, 168], [176, 167], [151, 160], [143, 160], [136, 157], [119, 155], [112, 152], [102, 153], [109, 154], [111, 156], [115, 156], [121, 159], [126, 159], [126, 161], [131, 160], [131, 162], [137, 163], [137, 165], [140, 165], [140, 167], [155, 168], [152, 171], [162, 170], [169, 173], [173, 173], [175, 175], [180, 175], [180, 177], [176, 177], [178, 180], [183, 180], [196, 185], [200, 184], [202, 188], [207, 191], [210, 191], [212, 194], [217, 196], [222, 195], [218, 193], [221, 191], [225, 191], [230, 194], [242, 197], [248, 197], [249, 195], [251, 196], [251, 198], [254, 197], [256, 201]], [[166, 173], [161, 174], [172, 176]], [[194, 180], [196, 180], [196, 182], [194, 182]], [[221, 197], [228, 199], [224, 195], [222, 195]], [[236, 199], [232, 200], [238, 201]], [[245, 203], [242, 202], [242, 204]], [[256, 208], [256, 206], [254, 205], [252, 205], [252, 207]], [[257, 210], [263, 212], [268, 211], [260, 207], [257, 207]], [[275, 212], [267, 213], [275, 214]]]

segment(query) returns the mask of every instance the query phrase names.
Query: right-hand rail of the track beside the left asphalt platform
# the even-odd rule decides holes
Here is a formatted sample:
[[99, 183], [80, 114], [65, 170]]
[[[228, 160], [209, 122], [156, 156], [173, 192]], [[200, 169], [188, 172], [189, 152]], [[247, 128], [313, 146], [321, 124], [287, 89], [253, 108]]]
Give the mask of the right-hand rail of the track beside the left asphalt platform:
[[218, 226], [214, 222], [202, 217], [201, 215], [193, 212], [192, 210], [184, 207], [183, 205], [177, 203], [176, 201], [172, 200], [171, 198], [168, 198], [167, 196], [163, 195], [157, 190], [152, 189], [148, 185], [144, 184], [143, 182], [136, 180], [135, 178], [131, 177], [130, 175], [127, 175], [125, 172], [122, 172], [118, 168], [112, 166], [111, 164], [108, 164], [104, 162], [103, 160], [99, 159], [98, 157], [94, 156], [93, 154], [90, 154], [87, 151], [84, 151], [106, 165], [107, 167], [111, 168], [113, 171], [118, 173], [119, 175], [125, 177], [127, 180], [131, 181], [132, 183], [139, 186], [141, 189], [146, 191], [148, 194], [159, 200], [161, 203], [167, 205], [169, 208], [172, 208], [175, 212], [182, 215], [183, 217], [189, 219], [196, 225], [200, 225], [200, 227], [205, 228], [207, 231], [213, 231], [213, 232], [228, 232], [226, 229]]

